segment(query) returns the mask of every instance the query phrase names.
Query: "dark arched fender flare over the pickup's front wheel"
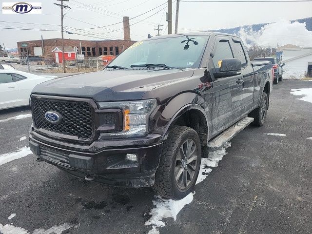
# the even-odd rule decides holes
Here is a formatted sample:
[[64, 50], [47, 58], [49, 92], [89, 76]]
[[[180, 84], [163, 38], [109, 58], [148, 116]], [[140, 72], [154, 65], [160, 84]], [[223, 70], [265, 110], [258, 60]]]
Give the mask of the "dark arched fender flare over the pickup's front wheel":
[[170, 132], [170, 129], [172, 128], [172, 126], [175, 124], [176, 120], [182, 116], [184, 113], [186, 113], [187, 111], [190, 111], [190, 110], [198, 110], [200, 111], [205, 119], [206, 119], [206, 124], [207, 124], [207, 143], [208, 143], [208, 139], [209, 139], [209, 117], [207, 116], [205, 110], [203, 107], [201, 107], [200, 105], [196, 104], [196, 103], [189, 103], [189, 104], [186, 104], [184, 105], [183, 107], [181, 107], [176, 113], [175, 115], [170, 119], [170, 121], [168, 122], [166, 128], [165, 128], [165, 131], [161, 137], [161, 140], [166, 140], [167, 137], [168, 137], [168, 134]]

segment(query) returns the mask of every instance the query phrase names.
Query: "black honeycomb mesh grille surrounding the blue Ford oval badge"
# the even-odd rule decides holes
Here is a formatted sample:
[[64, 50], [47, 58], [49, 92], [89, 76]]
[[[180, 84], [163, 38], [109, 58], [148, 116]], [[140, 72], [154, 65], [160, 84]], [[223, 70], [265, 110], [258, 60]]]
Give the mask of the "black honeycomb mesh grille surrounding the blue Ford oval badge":
[[[95, 129], [93, 127], [93, 107], [84, 101], [57, 100], [32, 96], [32, 115], [34, 126], [81, 140], [90, 140]], [[62, 119], [59, 123], [51, 123], [45, 119], [48, 111], [58, 112]], [[70, 138], [70, 137], [69, 137]]]

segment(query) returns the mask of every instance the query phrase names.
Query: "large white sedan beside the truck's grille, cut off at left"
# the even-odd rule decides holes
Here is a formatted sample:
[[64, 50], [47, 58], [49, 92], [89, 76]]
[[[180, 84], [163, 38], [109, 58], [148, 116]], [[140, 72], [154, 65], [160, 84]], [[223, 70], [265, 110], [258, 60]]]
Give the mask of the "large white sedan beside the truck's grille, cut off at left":
[[56, 76], [37, 76], [18, 70], [0, 70], [0, 110], [29, 105], [33, 88]]

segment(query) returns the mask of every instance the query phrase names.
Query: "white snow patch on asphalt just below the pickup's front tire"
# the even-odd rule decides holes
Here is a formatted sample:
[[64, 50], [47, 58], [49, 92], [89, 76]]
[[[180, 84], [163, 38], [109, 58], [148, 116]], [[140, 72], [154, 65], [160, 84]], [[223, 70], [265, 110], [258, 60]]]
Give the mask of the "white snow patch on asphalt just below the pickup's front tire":
[[153, 229], [148, 232], [148, 234], [158, 234], [157, 228], [164, 227], [166, 224], [162, 221], [164, 218], [172, 217], [176, 221], [176, 215], [183, 209], [187, 204], [193, 201], [193, 193], [190, 193], [181, 200], [165, 199], [156, 196], [156, 200], [153, 201], [154, 206], [150, 211], [152, 217], [145, 222], [146, 226], [153, 225]]

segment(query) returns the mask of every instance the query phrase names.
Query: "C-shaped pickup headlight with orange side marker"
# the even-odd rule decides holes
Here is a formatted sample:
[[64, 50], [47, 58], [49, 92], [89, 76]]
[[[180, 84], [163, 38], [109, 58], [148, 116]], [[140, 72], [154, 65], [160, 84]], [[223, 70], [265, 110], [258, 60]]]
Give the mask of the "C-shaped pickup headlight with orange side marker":
[[123, 113], [123, 130], [117, 133], [101, 133], [99, 138], [142, 137], [148, 131], [148, 119], [156, 108], [156, 99], [139, 101], [98, 102], [100, 108], [118, 108]]

